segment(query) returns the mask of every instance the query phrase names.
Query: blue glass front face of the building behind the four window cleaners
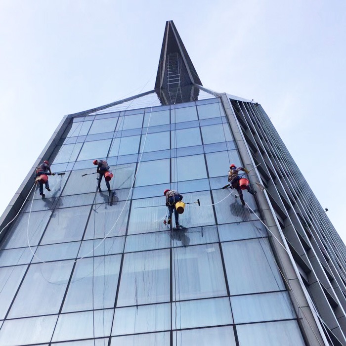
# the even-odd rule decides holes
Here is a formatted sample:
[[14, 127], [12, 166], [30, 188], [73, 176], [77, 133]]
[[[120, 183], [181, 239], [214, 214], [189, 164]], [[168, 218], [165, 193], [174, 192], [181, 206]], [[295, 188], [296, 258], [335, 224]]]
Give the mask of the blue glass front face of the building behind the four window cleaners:
[[[242, 163], [220, 100], [102, 112], [71, 121], [65, 174], [2, 241], [0, 345], [305, 345], [265, 227], [221, 188]], [[178, 229], [167, 188], [190, 203]]]

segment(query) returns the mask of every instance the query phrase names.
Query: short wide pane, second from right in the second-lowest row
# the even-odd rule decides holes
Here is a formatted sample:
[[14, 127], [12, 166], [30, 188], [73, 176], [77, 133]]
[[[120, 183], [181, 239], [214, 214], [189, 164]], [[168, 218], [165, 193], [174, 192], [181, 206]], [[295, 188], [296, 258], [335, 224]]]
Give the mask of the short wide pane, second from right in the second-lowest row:
[[232, 323], [228, 298], [172, 303], [172, 328], [219, 326]]

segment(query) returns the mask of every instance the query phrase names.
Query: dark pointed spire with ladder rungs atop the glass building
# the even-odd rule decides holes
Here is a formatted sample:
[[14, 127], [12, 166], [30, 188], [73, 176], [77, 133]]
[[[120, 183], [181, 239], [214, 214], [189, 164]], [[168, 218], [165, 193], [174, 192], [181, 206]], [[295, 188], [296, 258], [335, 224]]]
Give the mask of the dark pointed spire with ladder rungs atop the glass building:
[[194, 84], [202, 86], [173, 21], [167, 21], [155, 89], [161, 89], [166, 94], [165, 103], [173, 104], [188, 101], [186, 87], [191, 91]]

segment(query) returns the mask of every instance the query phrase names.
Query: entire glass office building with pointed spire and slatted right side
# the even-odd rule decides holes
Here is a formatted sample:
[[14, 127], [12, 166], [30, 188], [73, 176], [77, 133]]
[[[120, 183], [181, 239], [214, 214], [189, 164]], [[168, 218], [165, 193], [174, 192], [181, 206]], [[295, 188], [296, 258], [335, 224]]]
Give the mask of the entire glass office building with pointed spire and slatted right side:
[[260, 104], [204, 88], [172, 21], [154, 89], [66, 116], [0, 222], [1, 346], [346, 345], [345, 245]]

